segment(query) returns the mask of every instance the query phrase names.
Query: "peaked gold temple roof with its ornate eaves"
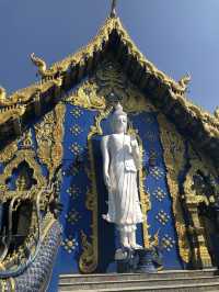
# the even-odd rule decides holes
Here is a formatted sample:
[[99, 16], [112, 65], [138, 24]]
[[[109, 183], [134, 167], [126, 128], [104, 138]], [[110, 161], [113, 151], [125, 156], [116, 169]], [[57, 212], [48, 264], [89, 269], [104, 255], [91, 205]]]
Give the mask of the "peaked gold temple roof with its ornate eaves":
[[[195, 105], [185, 97], [191, 77], [185, 76], [177, 82], [159, 70], [140, 53], [127, 31], [123, 27], [119, 18], [116, 16], [107, 18], [97, 35], [87, 46], [79, 49], [76, 54], [55, 63], [50, 68], [47, 68], [46, 63], [42, 58], [32, 54], [31, 59], [37, 66], [42, 80], [12, 93], [10, 97], [7, 97], [5, 90], [0, 88], [0, 125], [10, 119], [24, 115], [32, 108], [28, 106], [30, 104], [34, 104], [37, 109], [38, 103], [43, 99], [42, 96], [48, 90], [53, 89], [51, 96], [54, 97], [58, 94], [59, 90], [65, 90], [68, 83], [68, 72], [71, 69], [78, 68], [80, 77], [83, 75], [83, 68], [87, 68], [84, 70], [88, 72], [89, 68], [95, 65], [96, 56], [108, 49], [115, 34], [119, 38], [120, 44], [120, 47], [115, 46], [115, 50], [123, 50], [122, 47], [126, 48], [127, 58], [129, 57], [131, 60], [135, 60], [135, 63], [132, 61], [134, 66], [140, 68], [140, 79], [147, 79], [148, 76], [150, 78], [153, 77], [159, 86], [169, 91], [170, 100], [175, 106], [178, 106], [181, 110], [183, 109], [193, 119], [194, 123], [201, 124], [204, 132], [209, 138], [219, 139], [219, 119], [217, 112], [212, 115]], [[119, 55], [119, 52], [116, 54]], [[78, 81], [80, 77], [78, 77]], [[16, 108], [16, 111], [12, 110], [13, 106]]]

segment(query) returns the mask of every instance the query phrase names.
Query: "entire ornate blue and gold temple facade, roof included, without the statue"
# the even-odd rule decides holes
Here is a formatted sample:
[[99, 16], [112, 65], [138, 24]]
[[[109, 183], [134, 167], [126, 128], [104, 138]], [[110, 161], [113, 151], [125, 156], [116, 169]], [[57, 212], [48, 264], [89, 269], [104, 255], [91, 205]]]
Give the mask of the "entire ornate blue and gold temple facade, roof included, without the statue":
[[140, 149], [137, 239], [163, 270], [219, 260], [219, 112], [149, 61], [113, 10], [77, 54], [10, 97], [0, 88], [0, 291], [57, 291], [60, 274], [111, 273], [118, 234], [103, 220], [101, 139], [120, 103]]

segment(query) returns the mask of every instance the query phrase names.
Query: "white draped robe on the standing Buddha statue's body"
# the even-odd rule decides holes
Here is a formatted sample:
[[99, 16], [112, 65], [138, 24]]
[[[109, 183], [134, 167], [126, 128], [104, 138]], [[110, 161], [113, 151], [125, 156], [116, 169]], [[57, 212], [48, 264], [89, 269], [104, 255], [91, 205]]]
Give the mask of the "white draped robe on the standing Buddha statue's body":
[[107, 138], [110, 151], [108, 213], [105, 220], [125, 228], [126, 232], [136, 229], [136, 224], [143, 221], [140, 209], [137, 166], [131, 153], [130, 136], [123, 138], [117, 134]]

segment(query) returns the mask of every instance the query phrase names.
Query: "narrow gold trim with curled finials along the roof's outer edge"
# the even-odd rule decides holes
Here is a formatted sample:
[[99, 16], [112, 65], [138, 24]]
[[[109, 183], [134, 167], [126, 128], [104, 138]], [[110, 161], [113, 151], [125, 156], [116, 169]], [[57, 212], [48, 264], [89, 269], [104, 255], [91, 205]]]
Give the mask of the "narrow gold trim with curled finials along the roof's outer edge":
[[[170, 89], [173, 102], [174, 100], [177, 100], [177, 103], [180, 103], [184, 108], [184, 110], [188, 112], [189, 116], [194, 117], [194, 121], [199, 121], [206, 131], [206, 135], [208, 135], [209, 137], [218, 138], [219, 137], [218, 119], [207, 113], [206, 111], [201, 110], [200, 108], [194, 105], [184, 96], [187, 89], [187, 83], [191, 80], [191, 77], [185, 76], [178, 82], [176, 82], [173, 79], [171, 79], [169, 76], [166, 76], [164, 72], [158, 70], [158, 68], [139, 52], [139, 49], [134, 44], [126, 30], [123, 27], [118, 18], [108, 18], [105, 21], [104, 25], [101, 27], [96, 37], [94, 37], [90, 44], [81, 48], [77, 54], [70, 55], [64, 60], [54, 64], [49, 69], [46, 68], [46, 64], [43, 59], [37, 58], [33, 54], [32, 54], [32, 59], [38, 66], [42, 76], [50, 76], [48, 77], [48, 79], [49, 78], [53, 79], [54, 75], [60, 75], [60, 72], [65, 72], [70, 67], [77, 65], [79, 65], [79, 67], [82, 67], [88, 63], [88, 60], [93, 59], [94, 55], [103, 50], [103, 44], [107, 44], [114, 31], [117, 32], [120, 42], [124, 44], [124, 46], [127, 47], [127, 52], [130, 55], [130, 58], [136, 59], [140, 68], [142, 68], [142, 75], [147, 74], [148, 76], [150, 75], [159, 79], [164, 86], [166, 86]], [[61, 77], [59, 78], [61, 79]], [[25, 100], [25, 102], [27, 102], [33, 98], [34, 92], [38, 87], [41, 87], [41, 92], [45, 92], [57, 82], [60, 83], [60, 81], [57, 80], [46, 80], [44, 82], [33, 85], [26, 89], [22, 89], [19, 92], [14, 92], [12, 97], [9, 99], [10, 105], [18, 104], [18, 98], [16, 98], [18, 96], [21, 96], [22, 100]], [[5, 101], [5, 94], [2, 92], [2, 90], [1, 90], [1, 97], [3, 100], [2, 105], [3, 104], [7, 105], [8, 102]], [[145, 100], [146, 99], [143, 99], [142, 101]], [[11, 112], [8, 109], [7, 110], [4, 109], [4, 111], [7, 111], [5, 121], [8, 121], [11, 117]]]

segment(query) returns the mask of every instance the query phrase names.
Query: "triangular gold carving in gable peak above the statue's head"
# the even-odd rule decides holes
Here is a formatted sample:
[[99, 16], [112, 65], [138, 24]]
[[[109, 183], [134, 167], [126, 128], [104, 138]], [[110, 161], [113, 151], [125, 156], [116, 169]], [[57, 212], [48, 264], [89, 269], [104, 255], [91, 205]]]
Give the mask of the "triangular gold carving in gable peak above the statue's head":
[[[89, 110], [104, 110], [119, 100], [126, 112], [155, 111], [146, 97], [128, 81], [122, 68], [115, 61], [105, 60], [96, 70], [95, 78], [87, 80], [79, 89], [66, 98], [66, 101]], [[80, 113], [71, 112], [76, 117]]]

